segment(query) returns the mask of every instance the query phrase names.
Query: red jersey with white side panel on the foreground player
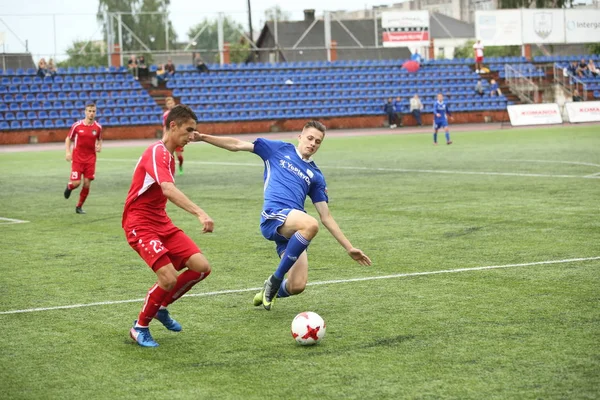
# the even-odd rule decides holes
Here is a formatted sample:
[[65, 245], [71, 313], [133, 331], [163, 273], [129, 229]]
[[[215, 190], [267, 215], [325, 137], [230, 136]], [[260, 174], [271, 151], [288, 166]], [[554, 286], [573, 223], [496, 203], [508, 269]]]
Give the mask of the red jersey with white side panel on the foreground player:
[[167, 198], [160, 184], [175, 182], [175, 159], [162, 141], [154, 143], [144, 151], [135, 170], [131, 187], [125, 200], [122, 225], [125, 222], [143, 221], [151, 226], [171, 223], [165, 210]]

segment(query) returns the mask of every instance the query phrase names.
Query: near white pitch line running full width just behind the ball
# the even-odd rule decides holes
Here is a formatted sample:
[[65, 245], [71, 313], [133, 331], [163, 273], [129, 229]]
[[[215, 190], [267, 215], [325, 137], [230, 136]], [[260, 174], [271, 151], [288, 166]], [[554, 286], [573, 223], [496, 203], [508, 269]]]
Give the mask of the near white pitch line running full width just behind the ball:
[[[598, 256], [598, 257], [583, 257], [583, 258], [567, 258], [564, 260], [536, 261], [536, 262], [522, 263], [522, 264], [504, 264], [504, 265], [490, 265], [490, 266], [485, 266], [485, 267], [445, 269], [445, 270], [440, 270], [440, 271], [409, 272], [409, 273], [405, 273], [405, 274], [366, 276], [366, 277], [362, 277], [362, 278], [334, 279], [334, 280], [329, 280], [329, 281], [309, 282], [308, 286], [333, 285], [333, 284], [337, 284], [337, 283], [364, 282], [364, 281], [374, 281], [374, 280], [379, 280], [379, 279], [406, 278], [406, 277], [411, 277], [411, 276], [452, 274], [452, 273], [458, 273], [458, 272], [485, 271], [485, 270], [490, 270], [490, 269], [532, 267], [535, 265], [566, 264], [566, 263], [592, 261], [592, 260], [600, 260], [600, 256]], [[186, 294], [186, 295], [184, 295], [184, 297], [218, 296], [221, 294], [255, 292], [255, 291], [258, 291], [261, 289], [262, 289], [262, 287], [253, 287], [253, 288], [246, 288], [246, 289], [232, 289], [232, 290], [219, 290], [216, 292]], [[129, 299], [129, 300], [115, 300], [115, 301], [99, 301], [99, 302], [95, 302], [95, 303], [71, 304], [71, 305], [67, 305], [67, 306], [41, 307], [41, 308], [28, 308], [28, 309], [23, 309], [23, 310], [0, 311], [0, 315], [22, 314], [22, 313], [52, 311], [52, 310], [66, 310], [66, 309], [71, 309], [71, 308], [107, 306], [107, 305], [124, 304], [124, 303], [141, 303], [143, 301], [144, 301], [143, 298]]]

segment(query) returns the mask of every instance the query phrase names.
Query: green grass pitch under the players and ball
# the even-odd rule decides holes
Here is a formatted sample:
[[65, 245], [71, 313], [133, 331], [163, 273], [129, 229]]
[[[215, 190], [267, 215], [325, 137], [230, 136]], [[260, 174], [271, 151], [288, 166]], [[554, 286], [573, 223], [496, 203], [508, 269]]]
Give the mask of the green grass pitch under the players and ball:
[[[87, 215], [78, 191], [63, 198], [63, 151], [0, 153], [0, 218], [30, 221], [0, 220], [0, 398], [599, 398], [600, 128], [452, 139], [327, 137], [315, 159], [332, 214], [373, 266], [323, 227], [309, 281], [413, 275], [312, 285], [271, 312], [250, 290], [277, 263], [258, 229], [261, 160], [189, 145], [176, 183], [215, 232], [168, 212], [213, 273], [171, 306], [182, 332], [152, 325], [156, 349], [128, 337], [154, 275], [120, 226], [143, 147], [104, 149]], [[327, 322], [317, 346], [289, 333], [302, 311]]]

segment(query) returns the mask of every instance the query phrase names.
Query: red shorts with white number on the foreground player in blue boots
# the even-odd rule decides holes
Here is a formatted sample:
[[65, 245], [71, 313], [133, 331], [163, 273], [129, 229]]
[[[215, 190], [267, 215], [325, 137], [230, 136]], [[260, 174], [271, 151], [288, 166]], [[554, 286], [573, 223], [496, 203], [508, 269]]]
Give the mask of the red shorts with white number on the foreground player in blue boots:
[[185, 267], [187, 260], [202, 251], [181, 229], [172, 223], [155, 229], [147, 225], [126, 224], [125, 236], [132, 249], [142, 257], [153, 271], [162, 267], [154, 264], [167, 255], [177, 271]]

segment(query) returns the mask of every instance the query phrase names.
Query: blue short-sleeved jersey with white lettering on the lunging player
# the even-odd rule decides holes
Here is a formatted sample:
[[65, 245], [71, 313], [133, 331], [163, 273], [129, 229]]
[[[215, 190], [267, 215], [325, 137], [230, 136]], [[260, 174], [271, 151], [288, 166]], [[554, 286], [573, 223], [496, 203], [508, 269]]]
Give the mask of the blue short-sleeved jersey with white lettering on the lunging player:
[[265, 162], [263, 210], [304, 211], [306, 196], [313, 203], [329, 201], [323, 174], [313, 161], [303, 160], [293, 144], [256, 139], [254, 153]]

